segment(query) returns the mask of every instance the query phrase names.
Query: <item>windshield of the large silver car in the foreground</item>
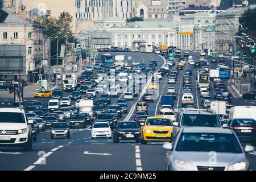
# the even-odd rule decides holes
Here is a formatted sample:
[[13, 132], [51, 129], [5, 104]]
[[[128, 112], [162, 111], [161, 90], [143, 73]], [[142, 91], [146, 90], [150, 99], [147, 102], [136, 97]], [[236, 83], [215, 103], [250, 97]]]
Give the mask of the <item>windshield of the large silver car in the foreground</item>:
[[241, 147], [233, 134], [220, 133], [183, 133], [175, 150], [242, 153]]

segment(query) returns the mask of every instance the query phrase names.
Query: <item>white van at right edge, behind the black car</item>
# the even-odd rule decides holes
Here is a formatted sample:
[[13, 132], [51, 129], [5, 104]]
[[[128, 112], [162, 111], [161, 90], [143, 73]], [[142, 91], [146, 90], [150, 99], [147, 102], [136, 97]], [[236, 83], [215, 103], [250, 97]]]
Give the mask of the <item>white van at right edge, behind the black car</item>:
[[256, 106], [234, 106], [229, 111], [229, 121], [233, 118], [252, 118], [256, 120]]

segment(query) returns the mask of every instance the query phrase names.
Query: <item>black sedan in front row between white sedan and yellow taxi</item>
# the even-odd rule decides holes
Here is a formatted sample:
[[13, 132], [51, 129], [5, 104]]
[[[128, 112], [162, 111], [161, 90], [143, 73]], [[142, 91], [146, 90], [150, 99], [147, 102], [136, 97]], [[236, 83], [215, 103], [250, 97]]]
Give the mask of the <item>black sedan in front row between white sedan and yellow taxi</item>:
[[118, 143], [119, 140], [135, 140], [140, 142], [141, 127], [135, 121], [120, 121], [114, 128], [113, 137], [114, 143]]

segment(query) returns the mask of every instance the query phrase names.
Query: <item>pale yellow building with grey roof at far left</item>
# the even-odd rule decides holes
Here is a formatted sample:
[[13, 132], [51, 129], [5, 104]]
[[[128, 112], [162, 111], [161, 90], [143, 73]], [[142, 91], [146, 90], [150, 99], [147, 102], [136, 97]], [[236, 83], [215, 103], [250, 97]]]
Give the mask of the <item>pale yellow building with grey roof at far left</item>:
[[0, 44], [26, 45], [26, 73], [35, 71], [36, 64], [48, 55], [43, 27], [9, 11], [0, 11]]

